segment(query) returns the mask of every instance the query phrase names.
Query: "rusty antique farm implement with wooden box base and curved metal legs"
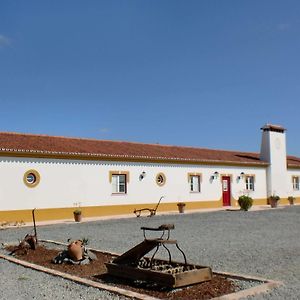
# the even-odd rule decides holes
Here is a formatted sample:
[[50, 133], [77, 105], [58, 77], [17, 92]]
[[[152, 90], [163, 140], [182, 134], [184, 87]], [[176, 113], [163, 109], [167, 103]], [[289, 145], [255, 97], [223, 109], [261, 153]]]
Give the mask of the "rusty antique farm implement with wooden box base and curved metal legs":
[[[163, 224], [158, 228], [141, 227], [144, 240], [112, 262], [107, 263], [108, 274], [126, 279], [152, 282], [169, 288], [211, 280], [211, 268], [187, 263], [185, 253], [179, 248], [177, 240], [170, 239], [170, 231], [174, 228], [174, 224]], [[161, 235], [158, 238], [150, 239], [146, 237], [147, 231], [160, 232]], [[171, 252], [168, 249], [168, 246], [172, 244], [181, 253], [184, 262], [172, 260]], [[161, 247], [167, 251], [168, 260], [155, 258]], [[152, 256], [145, 257], [152, 250], [154, 250]]]

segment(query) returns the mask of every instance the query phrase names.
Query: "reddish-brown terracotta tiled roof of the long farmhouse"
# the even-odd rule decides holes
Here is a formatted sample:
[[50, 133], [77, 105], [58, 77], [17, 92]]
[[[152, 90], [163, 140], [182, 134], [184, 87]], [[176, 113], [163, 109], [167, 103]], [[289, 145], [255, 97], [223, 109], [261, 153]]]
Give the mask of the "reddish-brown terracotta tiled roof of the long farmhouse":
[[[226, 162], [265, 164], [258, 153], [212, 150], [194, 147], [166, 146], [107, 140], [67, 138], [47, 135], [0, 133], [1, 152], [35, 152], [53, 155], [99, 156], [103, 158], [129, 158], [145, 160], [171, 160], [191, 162]], [[299, 158], [289, 161], [300, 166]]]

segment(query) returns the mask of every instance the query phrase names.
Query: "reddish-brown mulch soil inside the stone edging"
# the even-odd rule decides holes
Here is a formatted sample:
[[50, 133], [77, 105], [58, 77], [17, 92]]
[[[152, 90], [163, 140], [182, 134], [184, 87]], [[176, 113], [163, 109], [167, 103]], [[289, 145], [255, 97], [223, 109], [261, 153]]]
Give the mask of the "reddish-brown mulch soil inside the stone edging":
[[[16, 247], [9, 246], [8, 251], [14, 251]], [[195, 284], [185, 288], [166, 289], [154, 287], [149, 283], [136, 282], [124, 279], [118, 279], [109, 276], [106, 273], [105, 263], [113, 259], [113, 256], [107, 253], [94, 252], [97, 260], [91, 261], [87, 265], [72, 264], [54, 264], [52, 259], [58, 255], [61, 250], [49, 249], [44, 245], [39, 245], [36, 250], [22, 249], [14, 252], [14, 256], [41, 265], [43, 267], [54, 269], [60, 272], [72, 274], [78, 277], [87, 278], [105, 284], [110, 284], [123, 289], [131, 290], [137, 293], [147, 294], [160, 299], [181, 299], [181, 300], [200, 300], [211, 299], [229, 293], [233, 293], [236, 289], [234, 283], [220, 275], [213, 275], [211, 281]]]

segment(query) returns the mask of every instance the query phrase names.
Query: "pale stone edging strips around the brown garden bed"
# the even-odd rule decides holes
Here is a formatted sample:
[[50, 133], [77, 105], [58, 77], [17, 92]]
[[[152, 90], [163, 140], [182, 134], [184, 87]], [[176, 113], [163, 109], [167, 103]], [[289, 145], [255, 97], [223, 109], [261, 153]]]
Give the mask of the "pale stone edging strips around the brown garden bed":
[[[57, 242], [57, 241], [53, 241], [53, 240], [44, 240], [44, 239], [40, 239], [39, 241], [44, 242], [44, 243], [49, 243], [49, 244], [56, 244], [56, 245], [62, 245], [62, 246], [67, 246], [67, 243], [62, 243], [62, 242]], [[106, 253], [106, 254], [111, 254], [113, 256], [119, 256], [120, 254], [118, 253], [112, 253], [112, 252], [108, 252], [108, 251], [102, 251], [99, 249], [93, 249], [93, 248], [87, 248], [91, 251], [95, 251], [95, 252], [101, 252], [101, 253]], [[131, 297], [134, 299], [139, 299], [139, 300], [161, 300], [159, 298], [155, 298], [155, 297], [151, 297], [145, 294], [140, 294], [137, 292], [133, 292], [130, 290], [125, 290], [122, 288], [118, 288], [118, 287], [114, 287], [111, 285], [107, 285], [107, 284], [103, 284], [103, 283], [99, 283], [93, 280], [89, 280], [89, 279], [85, 279], [85, 278], [81, 278], [78, 276], [74, 276], [74, 275], [70, 275], [67, 273], [63, 273], [60, 271], [56, 271], [53, 269], [48, 269], [45, 267], [42, 267], [40, 265], [36, 265], [36, 264], [32, 264], [29, 263], [27, 261], [24, 260], [20, 260], [17, 259], [15, 257], [11, 257], [5, 254], [1, 254], [0, 253], [0, 258], [5, 259], [9, 262], [13, 262], [15, 264], [19, 264], [23, 267], [26, 268], [31, 268], [40, 272], [44, 272], [44, 273], [48, 273], [54, 276], [60, 276], [64, 279], [67, 280], [71, 280], [80, 284], [84, 284], [87, 286], [91, 286], [94, 288], [98, 288], [98, 289], [102, 289], [102, 290], [106, 290], [108, 292], [111, 293], [116, 293], [122, 296], [127, 296], [127, 297]], [[247, 296], [255, 296], [264, 292], [267, 292], [273, 288], [276, 288], [280, 285], [283, 285], [283, 283], [281, 281], [274, 281], [274, 280], [268, 280], [266, 278], [261, 278], [261, 277], [255, 277], [255, 276], [248, 276], [248, 275], [243, 275], [243, 274], [235, 274], [235, 273], [229, 273], [229, 272], [213, 272], [213, 274], [218, 274], [218, 275], [222, 275], [225, 277], [228, 277], [229, 279], [238, 279], [238, 280], [244, 280], [244, 281], [257, 281], [257, 282], [261, 282], [262, 284], [258, 285], [258, 286], [254, 286], [245, 290], [241, 290], [235, 293], [231, 293], [231, 294], [227, 294], [224, 296], [220, 296], [220, 297], [215, 297], [215, 298], [211, 298], [211, 300], [238, 300], [241, 298], [245, 298]]]

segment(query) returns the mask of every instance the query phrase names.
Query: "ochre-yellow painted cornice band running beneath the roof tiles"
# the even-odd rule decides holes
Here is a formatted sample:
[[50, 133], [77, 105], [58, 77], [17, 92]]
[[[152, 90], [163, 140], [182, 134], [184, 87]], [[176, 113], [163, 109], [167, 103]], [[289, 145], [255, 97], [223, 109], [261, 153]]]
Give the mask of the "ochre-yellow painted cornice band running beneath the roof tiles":
[[[148, 158], [148, 157], [117, 157], [108, 155], [94, 155], [94, 154], [51, 154], [51, 153], [25, 153], [18, 151], [0, 151], [0, 156], [6, 157], [30, 157], [30, 158], [51, 158], [51, 159], [72, 159], [72, 160], [87, 160], [87, 161], [119, 161], [119, 162], [147, 162], [147, 163], [173, 163], [183, 165], [212, 165], [212, 166], [251, 166], [264, 167], [269, 164], [265, 162], [248, 163], [248, 162], [231, 162], [231, 161], [209, 161], [209, 160], [189, 160], [189, 159], [172, 159], [172, 158]], [[295, 167], [300, 169], [299, 167]]]

